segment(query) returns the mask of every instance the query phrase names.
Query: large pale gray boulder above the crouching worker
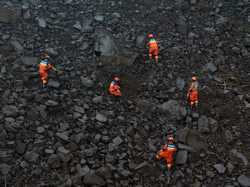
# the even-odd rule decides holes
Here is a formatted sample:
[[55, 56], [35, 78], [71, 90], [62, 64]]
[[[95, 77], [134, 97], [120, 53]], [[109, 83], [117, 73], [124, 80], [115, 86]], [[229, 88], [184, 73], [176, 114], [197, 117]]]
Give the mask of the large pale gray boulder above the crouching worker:
[[95, 35], [95, 51], [100, 51], [102, 56], [118, 54], [120, 50], [118, 50], [115, 40], [109, 31], [100, 29], [96, 31]]

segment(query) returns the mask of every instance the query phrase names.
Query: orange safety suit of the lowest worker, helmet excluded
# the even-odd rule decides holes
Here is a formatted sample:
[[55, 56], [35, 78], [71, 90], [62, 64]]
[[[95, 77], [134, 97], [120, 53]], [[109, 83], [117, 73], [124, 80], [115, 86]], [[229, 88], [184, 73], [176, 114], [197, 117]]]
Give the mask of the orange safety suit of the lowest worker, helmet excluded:
[[161, 149], [158, 154], [156, 155], [157, 159], [165, 159], [166, 165], [168, 169], [171, 169], [174, 164], [174, 155], [177, 151], [177, 148], [174, 144], [167, 144]]

